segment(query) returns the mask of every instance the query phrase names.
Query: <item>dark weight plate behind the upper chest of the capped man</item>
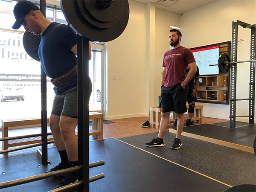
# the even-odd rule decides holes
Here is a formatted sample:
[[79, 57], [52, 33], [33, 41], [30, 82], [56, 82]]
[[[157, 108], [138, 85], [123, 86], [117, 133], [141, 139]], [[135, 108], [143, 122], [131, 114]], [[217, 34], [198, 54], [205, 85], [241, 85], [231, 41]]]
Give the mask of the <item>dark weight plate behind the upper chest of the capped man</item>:
[[23, 47], [27, 54], [36, 61], [40, 61], [38, 55], [38, 47], [41, 41], [41, 35], [34, 35], [31, 32], [24, 32], [23, 34]]

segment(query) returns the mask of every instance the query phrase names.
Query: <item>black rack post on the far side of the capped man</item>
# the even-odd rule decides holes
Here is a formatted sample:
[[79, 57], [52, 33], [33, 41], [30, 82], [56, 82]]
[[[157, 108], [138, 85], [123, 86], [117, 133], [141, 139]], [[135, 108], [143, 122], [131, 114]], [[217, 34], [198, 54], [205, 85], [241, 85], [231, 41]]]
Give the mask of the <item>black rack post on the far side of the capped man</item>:
[[[46, 2], [40, 0], [40, 11], [46, 16]], [[47, 152], [47, 88], [46, 88], [46, 74], [41, 66], [41, 131], [42, 131], [42, 165], [48, 164]]]

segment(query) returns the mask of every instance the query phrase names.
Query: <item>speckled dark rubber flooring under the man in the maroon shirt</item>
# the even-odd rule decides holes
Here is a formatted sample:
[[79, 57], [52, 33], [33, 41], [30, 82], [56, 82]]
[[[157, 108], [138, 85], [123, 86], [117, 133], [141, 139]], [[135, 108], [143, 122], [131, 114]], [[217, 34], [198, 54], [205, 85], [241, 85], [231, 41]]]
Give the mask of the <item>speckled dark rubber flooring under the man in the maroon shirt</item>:
[[231, 186], [256, 184], [255, 154], [185, 136], [181, 137], [181, 148], [173, 150], [171, 146], [175, 134], [167, 131], [163, 137], [164, 147], [146, 147], [144, 145], [156, 137], [157, 133], [152, 133], [120, 140]]

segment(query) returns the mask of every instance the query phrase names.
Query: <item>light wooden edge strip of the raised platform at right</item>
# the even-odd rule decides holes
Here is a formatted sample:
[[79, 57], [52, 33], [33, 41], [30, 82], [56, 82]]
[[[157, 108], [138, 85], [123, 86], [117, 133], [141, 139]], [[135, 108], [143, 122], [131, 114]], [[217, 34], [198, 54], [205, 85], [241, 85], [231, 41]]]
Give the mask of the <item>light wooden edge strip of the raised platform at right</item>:
[[[172, 128], [169, 129], [169, 132], [176, 134], [176, 130], [172, 129]], [[246, 151], [246, 152], [254, 154], [254, 150], [253, 150], [252, 147], [247, 147], [247, 146], [239, 145], [239, 144], [236, 144], [236, 143], [230, 143], [230, 142], [227, 142], [227, 141], [221, 141], [221, 140], [213, 139], [213, 138], [210, 138], [210, 137], [204, 137], [204, 136], [201, 136], [201, 135], [191, 134], [191, 133], [187, 133], [187, 132], [184, 132], [184, 131], [182, 132], [181, 135], [186, 136], [186, 137], [191, 137], [191, 138], [194, 138], [194, 139], [198, 139], [198, 140], [202, 140], [202, 141], [207, 141], [207, 142], [210, 142], [210, 143], [215, 143], [215, 144], [230, 147], [230, 148], [235, 148], [235, 149], [238, 149], [238, 150], [241, 150], [241, 151]]]

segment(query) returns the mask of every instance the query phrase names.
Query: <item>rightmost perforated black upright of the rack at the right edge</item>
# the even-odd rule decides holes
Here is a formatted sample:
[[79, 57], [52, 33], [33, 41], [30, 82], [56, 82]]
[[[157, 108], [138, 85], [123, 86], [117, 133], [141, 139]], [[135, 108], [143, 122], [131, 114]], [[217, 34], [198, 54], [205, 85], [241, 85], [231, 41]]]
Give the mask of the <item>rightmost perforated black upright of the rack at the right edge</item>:
[[[255, 47], [255, 41], [256, 41], [256, 29], [255, 26], [251, 28], [251, 47], [250, 47], [250, 60], [255, 60], [256, 56], [256, 47]], [[254, 124], [254, 105], [255, 105], [255, 61], [250, 62], [250, 83], [249, 83], [249, 124]]]

